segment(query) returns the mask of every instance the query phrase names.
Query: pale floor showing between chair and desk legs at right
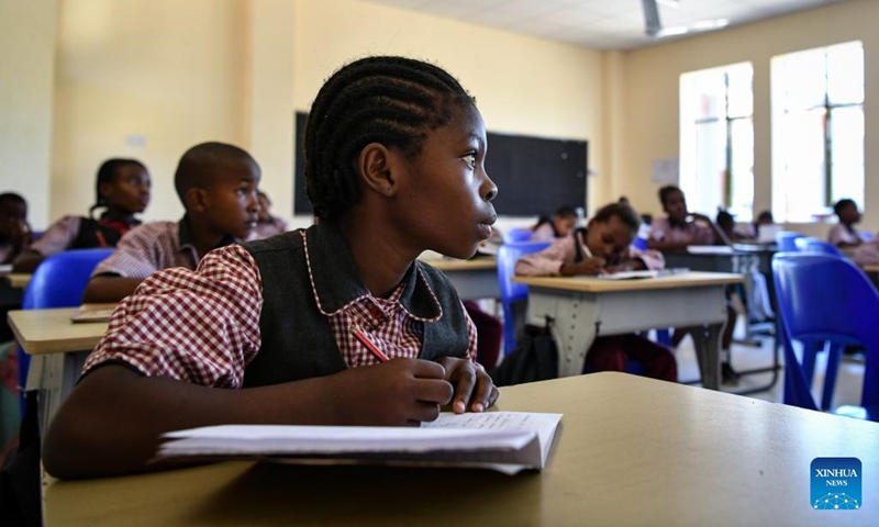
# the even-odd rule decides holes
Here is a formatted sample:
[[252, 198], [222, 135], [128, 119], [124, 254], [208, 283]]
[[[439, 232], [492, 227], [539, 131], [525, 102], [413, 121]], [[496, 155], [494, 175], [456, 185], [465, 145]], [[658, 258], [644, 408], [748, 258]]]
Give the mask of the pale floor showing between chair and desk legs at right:
[[[737, 326], [735, 335], [736, 337], [744, 337], [742, 324]], [[759, 343], [759, 346], [736, 343], [733, 344], [732, 365], [736, 371], [765, 368], [772, 365], [772, 337], [758, 336], [756, 339]], [[686, 338], [680, 346], [678, 346], [676, 356], [678, 358], [679, 379], [681, 381], [698, 379], [699, 369], [696, 363], [692, 340], [690, 340], [689, 337]], [[782, 365], [783, 358], [783, 354], [779, 351], [779, 361]], [[815, 365], [815, 379], [812, 385], [812, 394], [815, 401], [821, 401], [821, 390], [824, 385], [825, 366], [826, 354], [820, 354]], [[724, 384], [722, 390], [725, 392], [746, 391], [748, 389], [766, 385], [771, 381], [771, 379], [772, 374], [769, 372], [743, 375], [737, 384]], [[836, 390], [834, 392], [832, 407], [843, 404], [859, 404], [863, 379], [864, 362], [857, 358], [845, 356], [843, 358], [843, 363], [839, 366], [839, 373], [836, 381]], [[752, 393], [746, 396], [780, 403], [782, 401], [783, 386], [785, 372], [783, 370], [779, 370], [778, 380], [771, 389]]]

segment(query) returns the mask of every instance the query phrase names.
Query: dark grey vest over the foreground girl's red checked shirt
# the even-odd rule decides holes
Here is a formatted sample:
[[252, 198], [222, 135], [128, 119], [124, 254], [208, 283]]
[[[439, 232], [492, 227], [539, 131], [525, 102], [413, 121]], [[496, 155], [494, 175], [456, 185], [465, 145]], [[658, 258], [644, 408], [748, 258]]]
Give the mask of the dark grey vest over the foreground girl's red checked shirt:
[[[308, 231], [315, 288], [323, 309], [333, 312], [366, 293], [360, 276], [351, 259], [341, 234], [322, 223]], [[320, 231], [320, 232], [319, 232]], [[324, 239], [330, 238], [330, 239]], [[244, 388], [279, 384], [313, 377], [330, 375], [347, 368], [336, 345], [329, 318], [314, 299], [300, 231], [243, 244], [253, 255], [263, 278], [263, 311], [259, 317], [262, 347], [244, 372]], [[333, 255], [334, 258], [326, 258]], [[318, 269], [321, 266], [321, 269]], [[422, 347], [419, 358], [466, 357], [469, 346], [467, 318], [448, 279], [433, 267], [416, 261], [410, 268], [401, 298], [403, 305], [424, 307], [430, 295], [419, 280], [414, 266], [436, 294], [443, 316], [421, 323]], [[432, 301], [432, 300], [431, 300]], [[327, 305], [330, 304], [330, 305]], [[410, 312], [412, 312], [410, 310]]]

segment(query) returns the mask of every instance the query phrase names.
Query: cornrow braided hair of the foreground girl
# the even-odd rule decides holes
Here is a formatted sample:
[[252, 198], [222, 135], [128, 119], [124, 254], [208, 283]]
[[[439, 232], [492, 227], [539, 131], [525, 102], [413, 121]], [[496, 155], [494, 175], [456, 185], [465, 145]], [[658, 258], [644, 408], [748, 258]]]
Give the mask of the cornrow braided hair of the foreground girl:
[[404, 57], [355, 60], [318, 92], [305, 125], [305, 191], [316, 217], [337, 217], [357, 202], [356, 159], [370, 143], [415, 158], [453, 104], [475, 105], [442, 68]]

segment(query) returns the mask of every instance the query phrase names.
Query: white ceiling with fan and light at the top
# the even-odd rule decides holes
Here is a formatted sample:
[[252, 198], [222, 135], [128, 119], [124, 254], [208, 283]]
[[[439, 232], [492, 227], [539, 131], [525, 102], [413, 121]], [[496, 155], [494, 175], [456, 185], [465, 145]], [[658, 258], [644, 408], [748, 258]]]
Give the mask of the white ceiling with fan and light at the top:
[[424, 14], [564, 42], [593, 49], [634, 49], [685, 38], [693, 24], [728, 20], [739, 25], [847, 0], [658, 0], [663, 27], [682, 36], [645, 34], [642, 0], [367, 0]]

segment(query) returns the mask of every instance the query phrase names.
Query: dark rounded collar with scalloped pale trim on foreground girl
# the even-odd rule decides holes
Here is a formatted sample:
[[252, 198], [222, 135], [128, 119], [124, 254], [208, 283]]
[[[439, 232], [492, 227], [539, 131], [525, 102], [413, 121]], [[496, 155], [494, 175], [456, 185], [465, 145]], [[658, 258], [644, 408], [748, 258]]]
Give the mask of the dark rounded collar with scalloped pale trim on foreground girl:
[[[335, 222], [322, 220], [304, 231], [302, 239], [314, 300], [321, 313], [331, 316], [352, 302], [372, 298]], [[409, 266], [400, 304], [412, 317], [435, 322], [443, 316], [443, 310], [423, 272], [418, 261]]]

